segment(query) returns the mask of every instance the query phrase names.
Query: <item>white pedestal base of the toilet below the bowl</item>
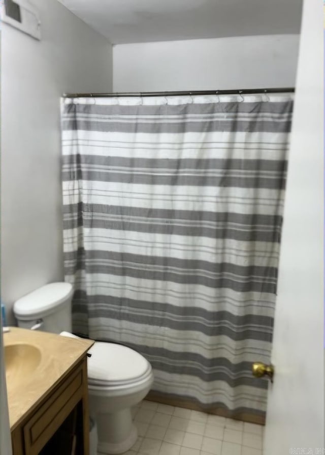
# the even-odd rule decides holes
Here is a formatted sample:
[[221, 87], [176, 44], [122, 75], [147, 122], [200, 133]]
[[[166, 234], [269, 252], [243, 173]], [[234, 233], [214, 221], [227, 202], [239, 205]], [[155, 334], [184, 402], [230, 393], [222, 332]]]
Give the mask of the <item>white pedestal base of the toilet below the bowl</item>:
[[137, 441], [138, 431], [131, 409], [110, 414], [97, 414], [98, 455], [117, 455], [129, 450]]

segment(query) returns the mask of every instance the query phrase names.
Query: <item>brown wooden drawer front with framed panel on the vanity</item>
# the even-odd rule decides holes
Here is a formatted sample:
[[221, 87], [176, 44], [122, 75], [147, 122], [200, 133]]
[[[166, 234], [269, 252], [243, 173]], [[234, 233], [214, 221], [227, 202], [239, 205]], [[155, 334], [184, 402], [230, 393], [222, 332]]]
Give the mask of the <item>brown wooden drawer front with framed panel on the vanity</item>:
[[83, 362], [64, 379], [24, 425], [26, 453], [37, 455], [53, 436], [77, 403], [82, 400], [84, 378]]

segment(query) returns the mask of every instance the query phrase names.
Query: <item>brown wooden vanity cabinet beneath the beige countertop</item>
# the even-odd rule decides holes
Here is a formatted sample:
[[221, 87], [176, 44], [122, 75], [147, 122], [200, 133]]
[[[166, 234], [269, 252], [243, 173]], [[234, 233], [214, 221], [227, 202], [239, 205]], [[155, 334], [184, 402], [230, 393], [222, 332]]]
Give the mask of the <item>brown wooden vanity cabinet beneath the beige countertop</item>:
[[89, 455], [86, 355], [12, 430], [11, 439], [13, 455]]

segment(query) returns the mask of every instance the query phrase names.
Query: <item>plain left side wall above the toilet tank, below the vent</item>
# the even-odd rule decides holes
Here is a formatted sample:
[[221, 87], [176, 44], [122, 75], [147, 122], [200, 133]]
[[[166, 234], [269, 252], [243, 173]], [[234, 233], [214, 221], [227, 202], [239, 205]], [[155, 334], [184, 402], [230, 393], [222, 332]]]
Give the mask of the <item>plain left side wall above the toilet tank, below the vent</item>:
[[62, 280], [59, 98], [112, 90], [112, 46], [56, 0], [42, 41], [2, 24], [1, 298]]

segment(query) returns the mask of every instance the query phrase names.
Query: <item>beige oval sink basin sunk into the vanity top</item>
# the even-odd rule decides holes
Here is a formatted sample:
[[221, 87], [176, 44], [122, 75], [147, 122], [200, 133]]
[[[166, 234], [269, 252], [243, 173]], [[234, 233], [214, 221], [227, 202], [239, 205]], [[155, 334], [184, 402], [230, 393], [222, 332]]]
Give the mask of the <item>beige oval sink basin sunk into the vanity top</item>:
[[26, 343], [5, 346], [7, 384], [12, 387], [28, 379], [40, 364], [41, 357], [38, 348]]

